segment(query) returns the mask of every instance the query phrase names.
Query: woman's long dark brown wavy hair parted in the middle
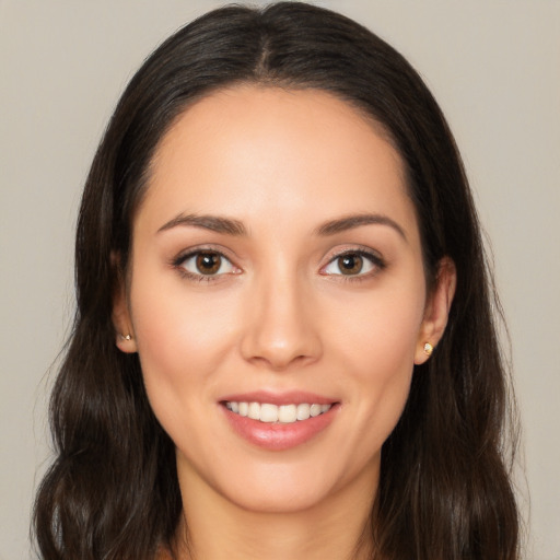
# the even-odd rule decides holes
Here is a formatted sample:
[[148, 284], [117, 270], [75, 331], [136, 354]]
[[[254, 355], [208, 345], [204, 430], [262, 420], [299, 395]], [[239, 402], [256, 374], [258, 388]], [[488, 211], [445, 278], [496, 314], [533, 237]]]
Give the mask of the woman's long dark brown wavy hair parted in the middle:
[[445, 334], [416, 366], [383, 446], [375, 558], [517, 559], [499, 306], [454, 139], [394, 48], [342, 15], [298, 2], [199, 18], [145, 60], [115, 109], [78, 222], [77, 314], [50, 401], [57, 455], [34, 510], [40, 557], [153, 560], [171, 549], [182, 511], [174, 444], [150, 408], [137, 354], [115, 346], [113, 295], [159, 142], [194, 101], [238, 83], [326, 91], [381, 124], [406, 168], [429, 283], [443, 257], [456, 266]]

